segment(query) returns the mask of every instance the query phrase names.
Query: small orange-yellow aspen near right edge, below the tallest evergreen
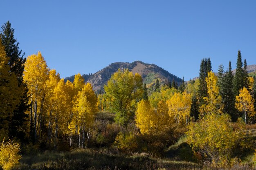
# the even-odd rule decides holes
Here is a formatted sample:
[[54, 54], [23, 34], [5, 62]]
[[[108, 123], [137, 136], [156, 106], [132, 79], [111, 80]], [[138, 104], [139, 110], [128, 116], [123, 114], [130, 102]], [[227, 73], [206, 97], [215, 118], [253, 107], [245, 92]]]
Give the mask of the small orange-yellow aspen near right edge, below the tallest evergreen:
[[245, 117], [245, 124], [247, 124], [247, 119], [251, 118], [255, 115], [254, 111], [254, 99], [252, 98], [252, 95], [250, 95], [247, 88], [243, 88], [239, 90], [239, 95], [236, 96], [236, 109], [240, 112], [243, 112], [243, 115]]

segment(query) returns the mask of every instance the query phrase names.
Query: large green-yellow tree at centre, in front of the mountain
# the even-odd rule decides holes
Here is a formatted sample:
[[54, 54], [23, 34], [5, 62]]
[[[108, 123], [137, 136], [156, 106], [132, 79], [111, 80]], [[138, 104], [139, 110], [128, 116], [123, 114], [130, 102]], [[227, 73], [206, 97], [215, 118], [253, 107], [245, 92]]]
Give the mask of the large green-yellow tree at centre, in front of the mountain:
[[116, 113], [115, 121], [125, 126], [143, 93], [141, 75], [133, 75], [128, 69], [119, 69], [108, 80], [104, 90], [110, 101], [111, 111]]

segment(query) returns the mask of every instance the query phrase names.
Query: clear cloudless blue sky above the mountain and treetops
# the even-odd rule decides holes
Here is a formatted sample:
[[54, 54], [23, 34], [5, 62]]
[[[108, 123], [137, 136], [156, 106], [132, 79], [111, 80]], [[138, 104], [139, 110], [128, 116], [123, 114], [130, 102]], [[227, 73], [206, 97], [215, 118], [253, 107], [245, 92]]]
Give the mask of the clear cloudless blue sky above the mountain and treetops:
[[204, 57], [235, 68], [238, 49], [256, 64], [255, 0], [2, 0], [7, 20], [61, 77], [141, 60], [189, 80]]

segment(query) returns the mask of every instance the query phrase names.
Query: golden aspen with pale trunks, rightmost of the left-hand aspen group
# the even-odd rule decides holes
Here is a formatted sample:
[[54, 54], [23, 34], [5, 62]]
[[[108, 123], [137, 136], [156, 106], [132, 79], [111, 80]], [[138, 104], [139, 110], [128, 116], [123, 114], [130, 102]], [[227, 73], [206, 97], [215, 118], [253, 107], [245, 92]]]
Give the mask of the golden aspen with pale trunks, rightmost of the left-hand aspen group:
[[75, 129], [74, 126], [78, 128], [79, 148], [84, 148], [85, 134], [89, 140], [90, 128], [94, 123], [94, 114], [98, 111], [97, 96], [90, 83], [85, 84], [82, 91], [79, 91], [75, 109], [77, 114], [73, 117], [70, 128]]

